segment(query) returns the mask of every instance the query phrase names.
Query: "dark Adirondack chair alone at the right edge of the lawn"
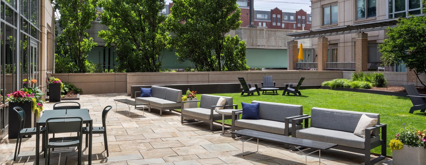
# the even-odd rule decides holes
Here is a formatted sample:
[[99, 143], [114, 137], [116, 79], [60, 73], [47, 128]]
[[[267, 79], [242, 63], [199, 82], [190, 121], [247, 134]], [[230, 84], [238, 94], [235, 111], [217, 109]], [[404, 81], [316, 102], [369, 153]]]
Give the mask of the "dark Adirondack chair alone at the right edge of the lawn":
[[414, 111], [420, 110], [420, 112], [425, 112], [426, 110], [426, 95], [420, 95], [419, 91], [417, 91], [416, 86], [413, 84], [403, 85], [405, 91], [407, 92], [407, 96], [410, 97], [413, 106], [410, 108], [409, 113], [413, 113]]

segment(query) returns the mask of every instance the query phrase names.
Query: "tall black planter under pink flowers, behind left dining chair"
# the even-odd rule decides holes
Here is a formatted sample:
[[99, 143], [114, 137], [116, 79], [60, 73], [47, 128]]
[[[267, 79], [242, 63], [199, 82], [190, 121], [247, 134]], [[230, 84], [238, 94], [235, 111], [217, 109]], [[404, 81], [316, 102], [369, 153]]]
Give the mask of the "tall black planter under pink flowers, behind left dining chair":
[[23, 103], [9, 102], [9, 139], [16, 139], [19, 131], [19, 120], [14, 107], [21, 107], [25, 112], [24, 128], [35, 127], [37, 117], [32, 113], [32, 101], [26, 101]]

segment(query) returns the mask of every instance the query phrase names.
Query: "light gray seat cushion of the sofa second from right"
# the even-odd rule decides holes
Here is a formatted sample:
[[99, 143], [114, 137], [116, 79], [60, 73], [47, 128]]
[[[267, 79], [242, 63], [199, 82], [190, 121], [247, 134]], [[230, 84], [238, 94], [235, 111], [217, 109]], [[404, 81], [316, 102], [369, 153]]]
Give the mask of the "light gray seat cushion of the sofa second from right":
[[[271, 132], [274, 134], [284, 134], [285, 133], [285, 123], [273, 120], [250, 120], [250, 119], [240, 119], [235, 120], [235, 126], [242, 127], [246, 129], [254, 129], [258, 131]], [[289, 124], [289, 131], [291, 131], [291, 124]], [[302, 124], [298, 124], [296, 129], [302, 129]]]

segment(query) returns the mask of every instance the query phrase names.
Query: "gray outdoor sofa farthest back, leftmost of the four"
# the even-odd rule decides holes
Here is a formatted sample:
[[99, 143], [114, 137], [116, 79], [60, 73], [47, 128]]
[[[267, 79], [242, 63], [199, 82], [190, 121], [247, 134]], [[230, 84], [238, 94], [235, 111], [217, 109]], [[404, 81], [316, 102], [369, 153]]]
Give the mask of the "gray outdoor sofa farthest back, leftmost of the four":
[[[140, 96], [141, 92], [135, 92], [135, 96]], [[163, 110], [181, 109], [182, 91], [178, 89], [166, 87], [151, 87], [151, 97], [135, 97], [136, 102], [146, 103], [148, 112], [151, 108], [159, 109], [160, 116], [163, 115]]]

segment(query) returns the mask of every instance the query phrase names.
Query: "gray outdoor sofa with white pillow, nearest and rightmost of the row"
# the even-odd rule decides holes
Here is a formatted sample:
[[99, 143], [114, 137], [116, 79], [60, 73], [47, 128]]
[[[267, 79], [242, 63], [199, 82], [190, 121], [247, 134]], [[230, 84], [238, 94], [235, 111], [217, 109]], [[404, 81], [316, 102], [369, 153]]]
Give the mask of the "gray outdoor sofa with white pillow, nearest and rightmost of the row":
[[[378, 119], [377, 125], [366, 128], [365, 139], [353, 133], [363, 114]], [[308, 127], [309, 118], [311, 119], [311, 127]], [[293, 123], [294, 137], [334, 143], [337, 144], [337, 147], [333, 149], [364, 154], [365, 165], [372, 165], [386, 157], [386, 124], [380, 123], [380, 114], [314, 107], [311, 110], [311, 116], [292, 120], [305, 120], [304, 129], [295, 130], [295, 123], [297, 122]], [[382, 129], [381, 139], [379, 136], [380, 128]], [[382, 145], [381, 156], [370, 161], [370, 150], [380, 145]], [[296, 148], [293, 147], [292, 149], [296, 151]]]

